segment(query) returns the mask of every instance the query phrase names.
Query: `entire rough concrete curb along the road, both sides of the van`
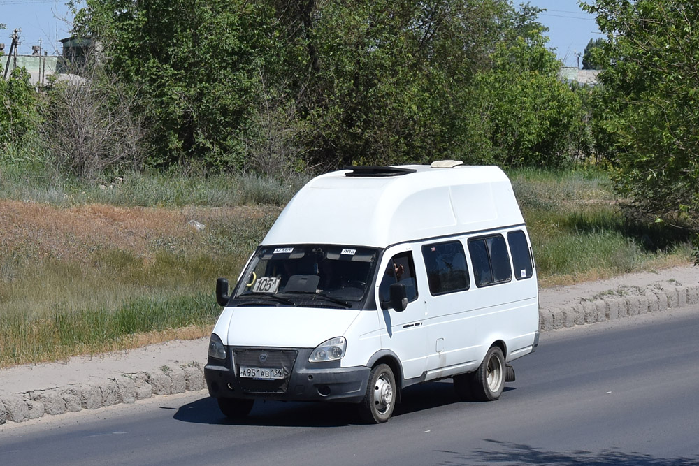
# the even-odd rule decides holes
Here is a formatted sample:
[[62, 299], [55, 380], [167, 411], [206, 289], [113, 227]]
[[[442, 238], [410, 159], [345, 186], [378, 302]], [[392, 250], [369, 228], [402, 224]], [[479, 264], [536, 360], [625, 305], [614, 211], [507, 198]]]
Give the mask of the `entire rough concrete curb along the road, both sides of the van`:
[[[579, 300], [565, 307], [541, 308], [539, 330], [612, 321], [629, 316], [661, 312], [675, 307], [699, 303], [699, 285], [671, 286], [655, 284], [647, 289], [622, 286]], [[161, 366], [150, 372], [118, 374], [89, 384], [71, 384], [25, 393], [0, 394], [0, 425], [7, 421], [20, 423], [45, 416], [82, 409], [97, 409], [131, 404], [153, 395], [171, 395], [206, 388], [203, 367], [199, 363]]]

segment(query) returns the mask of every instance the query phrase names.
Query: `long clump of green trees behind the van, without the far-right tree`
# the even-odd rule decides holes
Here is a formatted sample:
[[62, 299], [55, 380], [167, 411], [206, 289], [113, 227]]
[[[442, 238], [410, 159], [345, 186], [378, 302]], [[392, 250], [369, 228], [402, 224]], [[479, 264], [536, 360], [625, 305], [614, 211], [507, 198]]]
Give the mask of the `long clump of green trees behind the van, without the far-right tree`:
[[558, 165], [579, 114], [540, 10], [503, 0], [87, 0], [151, 164]]

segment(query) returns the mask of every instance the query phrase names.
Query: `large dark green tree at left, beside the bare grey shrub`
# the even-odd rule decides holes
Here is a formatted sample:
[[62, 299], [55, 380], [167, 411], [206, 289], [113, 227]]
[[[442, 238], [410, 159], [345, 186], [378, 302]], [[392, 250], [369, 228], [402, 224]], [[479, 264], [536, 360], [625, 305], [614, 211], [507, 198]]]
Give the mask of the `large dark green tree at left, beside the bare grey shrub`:
[[87, 0], [76, 30], [101, 41], [143, 98], [151, 163], [239, 166], [259, 70], [284, 56], [271, 12], [244, 0]]

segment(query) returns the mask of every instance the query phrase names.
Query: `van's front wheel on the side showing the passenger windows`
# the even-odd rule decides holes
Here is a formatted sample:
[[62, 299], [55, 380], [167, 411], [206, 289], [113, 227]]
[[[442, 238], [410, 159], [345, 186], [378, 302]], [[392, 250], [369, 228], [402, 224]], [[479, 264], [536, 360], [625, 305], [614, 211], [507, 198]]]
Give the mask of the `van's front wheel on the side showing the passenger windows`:
[[369, 424], [380, 424], [389, 420], [396, 407], [396, 377], [391, 367], [380, 364], [369, 373], [366, 394], [359, 402], [359, 416]]

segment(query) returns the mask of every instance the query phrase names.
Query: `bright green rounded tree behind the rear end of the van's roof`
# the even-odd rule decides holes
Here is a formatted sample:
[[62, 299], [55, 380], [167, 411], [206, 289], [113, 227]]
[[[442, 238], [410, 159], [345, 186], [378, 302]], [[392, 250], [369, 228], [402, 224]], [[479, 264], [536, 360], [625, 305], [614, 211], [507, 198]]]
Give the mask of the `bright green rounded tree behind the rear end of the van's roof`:
[[[531, 20], [530, 11], [523, 13]], [[521, 16], [512, 22], [528, 24]], [[464, 144], [482, 150], [478, 159], [487, 163], [561, 166], [570, 158], [582, 120], [581, 101], [559, 79], [561, 63], [545, 48], [542, 29], [507, 31], [516, 36], [498, 44], [491, 54], [493, 66], [477, 74], [470, 115], [477, 122], [466, 131]]]

